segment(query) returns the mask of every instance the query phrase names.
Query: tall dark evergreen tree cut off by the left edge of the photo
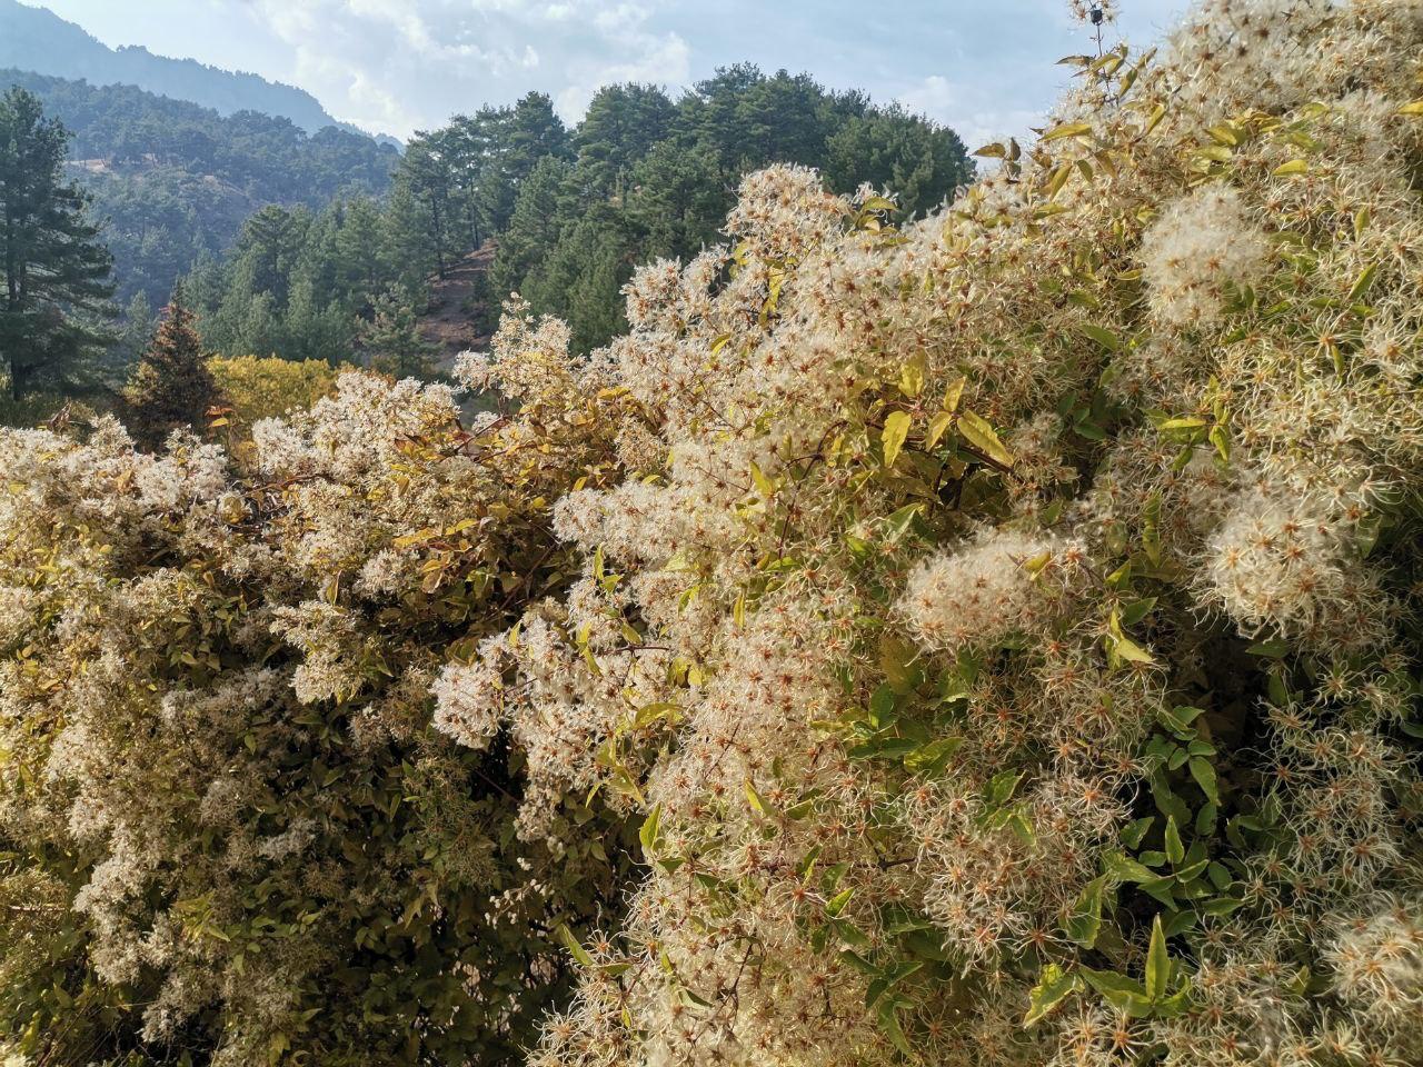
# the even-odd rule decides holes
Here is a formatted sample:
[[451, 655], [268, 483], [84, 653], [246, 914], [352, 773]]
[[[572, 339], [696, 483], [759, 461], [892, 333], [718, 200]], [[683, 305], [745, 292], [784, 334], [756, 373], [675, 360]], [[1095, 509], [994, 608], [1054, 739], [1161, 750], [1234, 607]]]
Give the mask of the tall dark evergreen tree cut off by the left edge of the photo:
[[0, 97], [0, 361], [10, 398], [92, 391], [114, 341], [110, 255], [64, 181], [68, 134], [31, 92]]

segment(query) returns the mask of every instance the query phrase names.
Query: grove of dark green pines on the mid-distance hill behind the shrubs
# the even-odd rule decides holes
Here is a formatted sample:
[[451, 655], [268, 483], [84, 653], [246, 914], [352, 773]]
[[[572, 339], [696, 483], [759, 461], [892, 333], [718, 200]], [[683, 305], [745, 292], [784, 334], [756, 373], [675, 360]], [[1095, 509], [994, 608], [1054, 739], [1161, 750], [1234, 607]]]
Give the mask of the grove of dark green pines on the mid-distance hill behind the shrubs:
[[889, 188], [905, 213], [972, 174], [951, 131], [807, 75], [733, 67], [676, 102], [613, 85], [572, 131], [529, 94], [416, 137], [383, 205], [259, 215], [195, 279], [205, 334], [232, 354], [344, 354], [360, 346], [357, 316], [390, 286], [418, 307], [428, 276], [492, 238], [485, 303], [518, 290], [589, 350], [626, 327], [619, 290], [633, 265], [717, 242], [741, 174], [777, 159], [820, 166], [841, 191]]

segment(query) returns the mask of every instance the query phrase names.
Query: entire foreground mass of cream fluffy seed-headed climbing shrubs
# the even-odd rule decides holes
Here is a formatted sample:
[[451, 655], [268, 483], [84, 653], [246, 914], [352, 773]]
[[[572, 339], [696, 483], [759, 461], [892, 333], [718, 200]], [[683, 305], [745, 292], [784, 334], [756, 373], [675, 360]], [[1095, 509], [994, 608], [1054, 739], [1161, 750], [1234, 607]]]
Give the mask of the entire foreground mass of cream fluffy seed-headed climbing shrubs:
[[1207, 0], [919, 222], [753, 174], [468, 427], [0, 434], [0, 1033], [1423, 1061], [1420, 55]]

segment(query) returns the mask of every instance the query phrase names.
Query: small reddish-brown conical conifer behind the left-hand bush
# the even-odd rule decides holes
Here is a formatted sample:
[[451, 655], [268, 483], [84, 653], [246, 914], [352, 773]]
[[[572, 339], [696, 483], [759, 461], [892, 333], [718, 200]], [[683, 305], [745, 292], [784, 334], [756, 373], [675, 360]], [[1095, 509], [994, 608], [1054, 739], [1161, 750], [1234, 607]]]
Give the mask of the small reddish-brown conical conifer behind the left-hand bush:
[[181, 282], [164, 310], [165, 319], [128, 384], [129, 432], [149, 450], [179, 427], [202, 427], [219, 401]]

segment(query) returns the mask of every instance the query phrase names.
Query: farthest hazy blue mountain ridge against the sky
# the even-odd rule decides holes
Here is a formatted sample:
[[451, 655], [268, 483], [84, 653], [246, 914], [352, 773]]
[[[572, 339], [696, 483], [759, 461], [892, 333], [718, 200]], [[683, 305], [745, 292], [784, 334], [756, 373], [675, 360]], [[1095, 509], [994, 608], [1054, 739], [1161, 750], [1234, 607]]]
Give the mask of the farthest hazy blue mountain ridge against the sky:
[[[74, 23], [43, 7], [0, 0], [0, 68], [84, 78], [95, 85], [124, 84], [188, 100], [219, 115], [260, 111], [292, 120], [309, 134], [337, 122], [310, 92], [256, 74], [171, 60], [142, 47], [110, 48]], [[354, 131], [354, 127], [344, 127]]]

